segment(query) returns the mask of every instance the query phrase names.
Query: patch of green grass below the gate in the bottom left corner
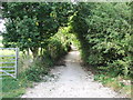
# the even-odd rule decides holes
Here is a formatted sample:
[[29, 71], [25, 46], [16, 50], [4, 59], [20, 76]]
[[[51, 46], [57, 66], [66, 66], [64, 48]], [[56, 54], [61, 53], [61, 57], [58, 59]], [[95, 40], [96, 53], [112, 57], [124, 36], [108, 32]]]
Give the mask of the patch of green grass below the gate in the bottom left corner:
[[13, 78], [2, 79], [2, 98], [14, 98], [23, 94], [25, 88], [31, 87], [31, 82], [24, 77], [16, 80]]

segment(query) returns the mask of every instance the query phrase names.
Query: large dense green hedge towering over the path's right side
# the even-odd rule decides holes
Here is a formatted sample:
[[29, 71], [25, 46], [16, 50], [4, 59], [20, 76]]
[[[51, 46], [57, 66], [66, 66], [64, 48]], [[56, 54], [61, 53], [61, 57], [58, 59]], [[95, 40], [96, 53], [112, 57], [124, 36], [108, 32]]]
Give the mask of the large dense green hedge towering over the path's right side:
[[71, 20], [83, 60], [114, 76], [131, 76], [131, 3], [79, 3]]

